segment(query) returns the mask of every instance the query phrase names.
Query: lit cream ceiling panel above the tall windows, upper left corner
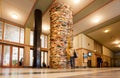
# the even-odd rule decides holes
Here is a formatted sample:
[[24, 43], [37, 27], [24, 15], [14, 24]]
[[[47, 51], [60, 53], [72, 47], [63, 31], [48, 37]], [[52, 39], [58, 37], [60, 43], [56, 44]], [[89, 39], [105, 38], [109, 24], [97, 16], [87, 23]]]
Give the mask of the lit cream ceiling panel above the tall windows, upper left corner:
[[0, 18], [24, 25], [35, 0], [0, 0]]

